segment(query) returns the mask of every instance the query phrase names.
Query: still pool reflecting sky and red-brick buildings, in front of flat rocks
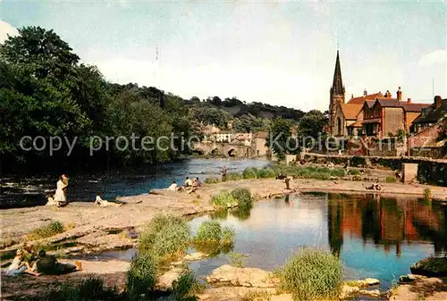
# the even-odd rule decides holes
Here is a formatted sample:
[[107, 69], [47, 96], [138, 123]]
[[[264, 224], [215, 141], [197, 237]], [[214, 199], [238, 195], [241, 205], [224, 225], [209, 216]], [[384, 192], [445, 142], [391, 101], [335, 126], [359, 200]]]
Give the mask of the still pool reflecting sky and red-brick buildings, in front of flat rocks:
[[[411, 264], [447, 250], [447, 207], [413, 198], [299, 194], [257, 202], [249, 212], [212, 213], [190, 222], [217, 220], [236, 232], [233, 252], [244, 266], [272, 271], [300, 247], [322, 248], [339, 255], [344, 278], [372, 277], [388, 289]], [[190, 249], [190, 252], [194, 250]], [[135, 250], [104, 256], [131, 260]], [[228, 255], [190, 263], [198, 277], [229, 263]]]

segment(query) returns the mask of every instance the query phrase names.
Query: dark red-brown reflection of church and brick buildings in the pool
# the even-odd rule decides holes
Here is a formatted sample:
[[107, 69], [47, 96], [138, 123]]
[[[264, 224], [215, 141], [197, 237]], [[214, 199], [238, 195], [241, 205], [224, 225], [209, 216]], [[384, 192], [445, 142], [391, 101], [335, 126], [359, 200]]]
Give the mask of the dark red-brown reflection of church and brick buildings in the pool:
[[416, 199], [393, 199], [379, 195], [342, 201], [329, 196], [328, 237], [334, 255], [340, 255], [343, 236], [372, 241], [386, 253], [391, 247], [401, 256], [402, 243], [433, 242], [434, 253], [447, 250], [446, 207]]

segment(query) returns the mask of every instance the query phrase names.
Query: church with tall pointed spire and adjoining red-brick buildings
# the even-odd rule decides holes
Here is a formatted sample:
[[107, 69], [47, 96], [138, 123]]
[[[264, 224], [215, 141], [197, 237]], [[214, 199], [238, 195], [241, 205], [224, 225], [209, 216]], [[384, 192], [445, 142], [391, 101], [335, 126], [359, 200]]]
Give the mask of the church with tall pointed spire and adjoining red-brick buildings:
[[327, 133], [337, 137], [372, 136], [385, 138], [409, 129], [427, 104], [414, 104], [409, 98], [402, 101], [401, 87], [393, 98], [389, 90], [354, 97], [345, 102], [340, 54], [337, 50], [333, 85], [330, 90]]

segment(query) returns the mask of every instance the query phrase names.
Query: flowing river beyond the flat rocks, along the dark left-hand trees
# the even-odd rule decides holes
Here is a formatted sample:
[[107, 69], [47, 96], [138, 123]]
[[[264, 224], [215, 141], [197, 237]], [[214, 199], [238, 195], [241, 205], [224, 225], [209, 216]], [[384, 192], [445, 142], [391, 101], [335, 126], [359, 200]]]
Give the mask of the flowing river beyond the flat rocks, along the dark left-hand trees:
[[[189, 159], [176, 163], [166, 163], [156, 171], [149, 171], [141, 166], [132, 169], [110, 171], [99, 175], [77, 175], [70, 179], [67, 191], [69, 201], [93, 202], [95, 196], [101, 193], [102, 198], [113, 200], [117, 196], [134, 196], [148, 193], [153, 188], [166, 188], [173, 180], [183, 183], [185, 177], [198, 177], [205, 180], [207, 177], [218, 176], [222, 166], [228, 172], [241, 172], [247, 167], [263, 167], [269, 161], [262, 159]], [[19, 182], [21, 188], [10, 188], [5, 184], [8, 181]], [[0, 194], [0, 209], [12, 207], [27, 207], [45, 205], [46, 194], [55, 193], [57, 176], [41, 177], [35, 179], [2, 180]]]

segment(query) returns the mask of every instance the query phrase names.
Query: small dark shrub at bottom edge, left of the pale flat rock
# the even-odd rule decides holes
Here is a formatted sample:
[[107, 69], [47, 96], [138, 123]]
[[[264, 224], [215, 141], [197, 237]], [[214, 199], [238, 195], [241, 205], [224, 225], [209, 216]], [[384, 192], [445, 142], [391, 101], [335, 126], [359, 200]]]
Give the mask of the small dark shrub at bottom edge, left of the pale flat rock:
[[196, 279], [194, 272], [182, 272], [179, 279], [173, 282], [172, 299], [174, 301], [198, 300], [198, 297], [195, 295], [201, 293], [204, 288]]

